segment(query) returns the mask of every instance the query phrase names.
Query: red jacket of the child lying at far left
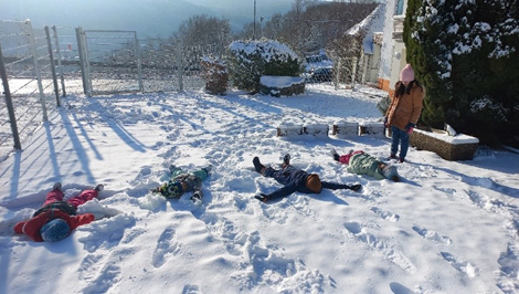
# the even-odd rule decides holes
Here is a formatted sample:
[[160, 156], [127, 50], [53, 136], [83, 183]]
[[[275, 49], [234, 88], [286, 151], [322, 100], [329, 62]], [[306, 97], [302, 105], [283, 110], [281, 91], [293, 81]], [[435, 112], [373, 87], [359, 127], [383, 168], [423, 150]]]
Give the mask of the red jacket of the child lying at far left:
[[59, 209], [51, 209], [43, 211], [36, 217], [17, 223], [13, 228], [14, 232], [18, 234], [27, 234], [29, 238], [36, 242], [43, 242], [43, 239], [40, 234], [42, 227], [50, 220], [53, 219], [63, 219], [66, 221], [71, 231], [76, 229], [80, 225], [87, 224], [94, 221], [95, 217], [92, 213], [85, 213], [80, 216], [68, 216], [68, 213], [61, 211]]

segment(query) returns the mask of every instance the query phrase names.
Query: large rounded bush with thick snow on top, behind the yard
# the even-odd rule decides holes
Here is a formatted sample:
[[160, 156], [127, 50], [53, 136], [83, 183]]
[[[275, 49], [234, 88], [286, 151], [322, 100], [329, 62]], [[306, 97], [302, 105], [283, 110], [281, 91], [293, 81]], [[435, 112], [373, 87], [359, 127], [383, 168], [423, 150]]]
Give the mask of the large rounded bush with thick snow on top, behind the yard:
[[298, 76], [303, 72], [299, 56], [273, 40], [234, 41], [227, 55], [233, 84], [253, 93], [260, 90], [262, 75]]

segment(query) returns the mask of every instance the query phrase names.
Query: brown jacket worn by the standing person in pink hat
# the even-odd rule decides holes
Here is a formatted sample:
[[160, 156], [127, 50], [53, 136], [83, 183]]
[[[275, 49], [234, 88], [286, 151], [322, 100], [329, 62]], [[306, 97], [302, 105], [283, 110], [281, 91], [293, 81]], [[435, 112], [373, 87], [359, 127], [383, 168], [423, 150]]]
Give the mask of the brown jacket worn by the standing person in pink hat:
[[[398, 82], [394, 88], [399, 88], [402, 82]], [[420, 114], [422, 113], [423, 98], [425, 91], [422, 86], [413, 84], [410, 93], [405, 90], [402, 96], [396, 96], [396, 92], [393, 95], [391, 105], [385, 113], [388, 118], [388, 125], [395, 126], [400, 129], [407, 130], [407, 125], [419, 122]]]

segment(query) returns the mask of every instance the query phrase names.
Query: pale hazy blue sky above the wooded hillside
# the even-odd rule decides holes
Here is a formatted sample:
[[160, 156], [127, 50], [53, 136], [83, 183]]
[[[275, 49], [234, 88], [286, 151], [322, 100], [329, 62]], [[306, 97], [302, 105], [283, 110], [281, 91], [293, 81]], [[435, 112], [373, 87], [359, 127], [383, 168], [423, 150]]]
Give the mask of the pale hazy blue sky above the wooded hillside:
[[[293, 0], [256, 0], [256, 19], [285, 13]], [[34, 27], [131, 30], [168, 36], [194, 14], [231, 21], [233, 30], [253, 21], [254, 0], [0, 0], [0, 20], [30, 19]]]

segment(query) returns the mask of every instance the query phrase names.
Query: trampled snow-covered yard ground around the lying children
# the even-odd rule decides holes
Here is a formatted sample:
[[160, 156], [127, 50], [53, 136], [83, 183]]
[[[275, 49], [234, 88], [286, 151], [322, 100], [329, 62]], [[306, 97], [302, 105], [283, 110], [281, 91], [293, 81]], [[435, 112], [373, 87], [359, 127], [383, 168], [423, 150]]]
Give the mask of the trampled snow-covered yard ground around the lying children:
[[[446, 161], [411, 149], [392, 182], [348, 174], [329, 155], [386, 157], [388, 138], [276, 137], [284, 122], [379, 120], [372, 91], [64, 99], [0, 162], [0, 293], [517, 293], [519, 155]], [[279, 185], [252, 170], [253, 157], [278, 165], [287, 153], [362, 192], [257, 201]], [[148, 192], [170, 164], [214, 166], [201, 206]], [[99, 203], [121, 213], [56, 243], [14, 235], [55, 181], [67, 197], [105, 183]]]

